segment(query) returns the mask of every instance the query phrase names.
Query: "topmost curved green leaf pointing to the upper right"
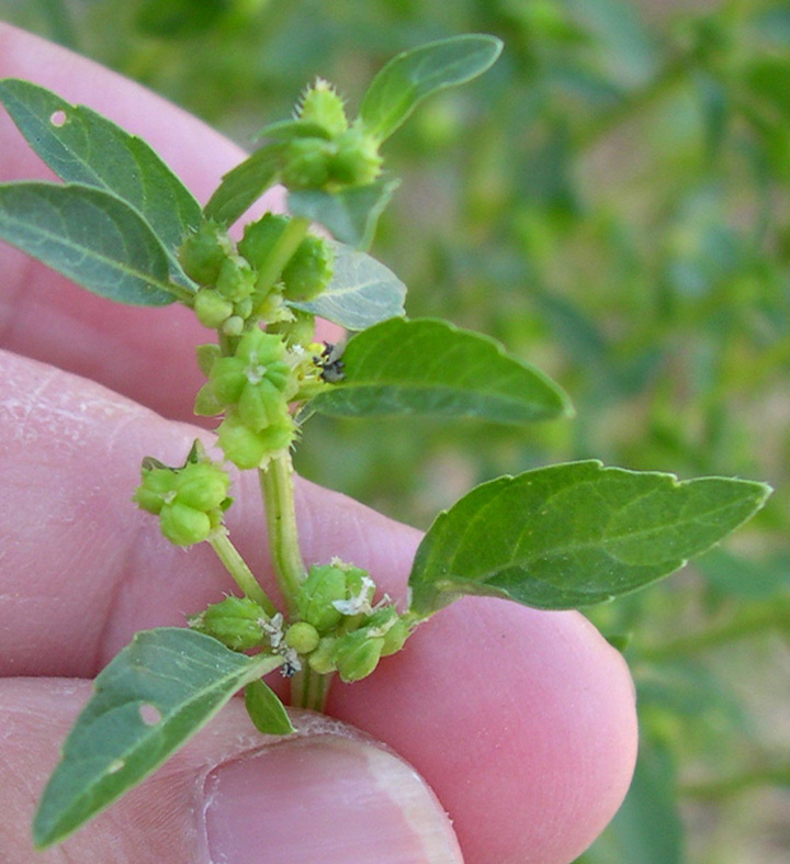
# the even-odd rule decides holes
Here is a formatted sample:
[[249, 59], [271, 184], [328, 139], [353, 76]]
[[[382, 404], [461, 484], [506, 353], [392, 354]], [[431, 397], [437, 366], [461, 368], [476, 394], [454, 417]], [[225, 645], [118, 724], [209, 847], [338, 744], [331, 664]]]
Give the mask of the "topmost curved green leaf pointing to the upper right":
[[470, 34], [398, 54], [368, 88], [360, 119], [372, 135], [384, 141], [426, 97], [482, 75], [501, 49], [495, 36]]

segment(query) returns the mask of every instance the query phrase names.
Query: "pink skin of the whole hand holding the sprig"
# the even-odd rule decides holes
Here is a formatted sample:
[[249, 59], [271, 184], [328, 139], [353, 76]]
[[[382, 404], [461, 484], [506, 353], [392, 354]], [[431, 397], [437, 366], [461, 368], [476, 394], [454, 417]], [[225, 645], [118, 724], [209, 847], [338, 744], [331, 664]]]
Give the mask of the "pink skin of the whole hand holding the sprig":
[[[201, 201], [242, 156], [138, 86], [3, 23], [0, 77], [42, 83], [139, 134]], [[0, 109], [0, 179], [42, 177]], [[211, 334], [177, 306], [93, 296], [4, 244], [0, 273], [3, 861], [253, 862], [251, 849], [261, 861], [307, 861], [298, 843], [309, 840], [321, 862], [452, 862], [454, 830], [467, 864], [563, 864], [594, 840], [635, 759], [625, 664], [576, 613], [466, 598], [371, 677], [334, 686], [327, 711], [343, 725], [297, 712], [300, 738], [276, 742], [235, 699], [143, 786], [61, 848], [34, 853], [35, 800], [89, 680], [136, 630], [183, 625], [234, 586], [210, 549], [173, 548], [129, 503], [144, 456], [178, 463], [205, 435], [187, 422], [201, 384], [194, 346]], [[255, 484], [242, 478], [234, 495], [232, 536], [276, 596]], [[304, 481], [296, 497], [307, 561], [339, 556], [404, 596], [416, 530]], [[295, 776], [303, 787], [287, 788]], [[285, 851], [245, 845], [260, 842]]]

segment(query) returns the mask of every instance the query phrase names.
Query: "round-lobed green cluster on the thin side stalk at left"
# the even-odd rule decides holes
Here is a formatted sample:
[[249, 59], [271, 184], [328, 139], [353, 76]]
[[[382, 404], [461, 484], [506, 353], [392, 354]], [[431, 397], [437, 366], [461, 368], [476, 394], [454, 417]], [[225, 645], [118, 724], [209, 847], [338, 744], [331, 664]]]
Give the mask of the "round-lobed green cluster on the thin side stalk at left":
[[176, 546], [207, 540], [222, 525], [230, 479], [221, 465], [200, 460], [168, 468], [147, 460], [142, 474], [134, 501], [159, 516], [161, 532]]

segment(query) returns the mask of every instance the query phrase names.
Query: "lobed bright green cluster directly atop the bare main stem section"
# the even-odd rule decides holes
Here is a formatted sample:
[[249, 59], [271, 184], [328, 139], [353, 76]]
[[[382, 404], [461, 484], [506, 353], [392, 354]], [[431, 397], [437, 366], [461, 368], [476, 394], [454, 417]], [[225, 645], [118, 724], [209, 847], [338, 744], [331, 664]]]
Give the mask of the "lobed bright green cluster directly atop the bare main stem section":
[[289, 401], [297, 393], [298, 377], [289, 360], [283, 337], [260, 327], [241, 336], [232, 357], [214, 355], [195, 413], [225, 413], [217, 429], [219, 446], [239, 468], [264, 464], [294, 439]]

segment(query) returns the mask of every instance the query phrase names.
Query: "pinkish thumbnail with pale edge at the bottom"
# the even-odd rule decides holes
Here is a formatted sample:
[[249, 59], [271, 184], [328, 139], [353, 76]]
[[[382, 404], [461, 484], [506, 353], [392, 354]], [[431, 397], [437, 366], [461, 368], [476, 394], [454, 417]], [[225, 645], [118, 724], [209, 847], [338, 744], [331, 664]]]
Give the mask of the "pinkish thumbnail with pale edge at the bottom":
[[458, 864], [450, 820], [403, 760], [369, 741], [281, 741], [205, 782], [212, 864]]

